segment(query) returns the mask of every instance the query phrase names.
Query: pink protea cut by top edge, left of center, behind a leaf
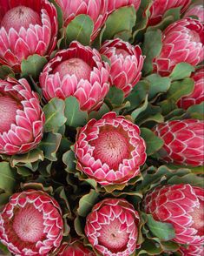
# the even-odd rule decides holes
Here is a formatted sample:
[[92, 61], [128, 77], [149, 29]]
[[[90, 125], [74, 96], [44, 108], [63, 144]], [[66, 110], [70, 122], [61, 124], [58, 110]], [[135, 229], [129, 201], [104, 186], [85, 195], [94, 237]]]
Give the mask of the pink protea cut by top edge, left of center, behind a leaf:
[[56, 3], [63, 11], [63, 25], [66, 27], [76, 16], [80, 14], [89, 15], [94, 22], [94, 30], [91, 35], [91, 41], [100, 32], [102, 25], [107, 19], [107, 1], [106, 0], [56, 0]]

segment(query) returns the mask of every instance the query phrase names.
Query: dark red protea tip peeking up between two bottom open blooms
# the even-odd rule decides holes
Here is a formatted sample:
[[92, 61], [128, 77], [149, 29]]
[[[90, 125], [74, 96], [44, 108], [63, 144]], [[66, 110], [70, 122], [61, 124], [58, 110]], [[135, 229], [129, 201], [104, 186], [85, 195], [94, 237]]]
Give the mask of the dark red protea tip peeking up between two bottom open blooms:
[[95, 253], [90, 251], [87, 247], [83, 246], [80, 240], [73, 240], [69, 244], [64, 243], [60, 251], [57, 253], [59, 256], [95, 256]]

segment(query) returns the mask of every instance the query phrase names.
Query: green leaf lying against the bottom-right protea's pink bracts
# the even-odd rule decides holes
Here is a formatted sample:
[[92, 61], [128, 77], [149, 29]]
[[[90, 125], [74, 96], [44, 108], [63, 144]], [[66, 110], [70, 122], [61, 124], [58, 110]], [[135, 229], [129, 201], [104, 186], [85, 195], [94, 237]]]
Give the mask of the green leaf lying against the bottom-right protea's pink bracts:
[[168, 241], [174, 239], [175, 232], [174, 227], [170, 223], [160, 222], [153, 219], [151, 214], [148, 216], [148, 228], [149, 230], [159, 239], [163, 241]]

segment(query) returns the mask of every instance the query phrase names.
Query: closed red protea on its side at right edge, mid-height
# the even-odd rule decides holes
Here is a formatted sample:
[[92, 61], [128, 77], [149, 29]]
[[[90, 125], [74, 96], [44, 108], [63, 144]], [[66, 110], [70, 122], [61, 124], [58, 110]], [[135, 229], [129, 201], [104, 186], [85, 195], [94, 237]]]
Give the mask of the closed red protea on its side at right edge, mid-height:
[[179, 165], [204, 164], [204, 121], [175, 120], [155, 126], [155, 134], [164, 145], [159, 151], [166, 162]]

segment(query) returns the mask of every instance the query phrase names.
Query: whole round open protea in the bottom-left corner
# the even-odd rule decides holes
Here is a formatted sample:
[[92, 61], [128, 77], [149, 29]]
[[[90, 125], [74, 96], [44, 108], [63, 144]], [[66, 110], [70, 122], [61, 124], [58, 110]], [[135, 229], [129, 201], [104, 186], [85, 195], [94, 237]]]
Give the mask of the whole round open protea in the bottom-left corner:
[[0, 213], [0, 240], [15, 255], [48, 255], [62, 239], [60, 206], [45, 192], [15, 193]]

